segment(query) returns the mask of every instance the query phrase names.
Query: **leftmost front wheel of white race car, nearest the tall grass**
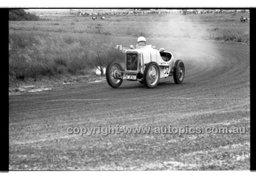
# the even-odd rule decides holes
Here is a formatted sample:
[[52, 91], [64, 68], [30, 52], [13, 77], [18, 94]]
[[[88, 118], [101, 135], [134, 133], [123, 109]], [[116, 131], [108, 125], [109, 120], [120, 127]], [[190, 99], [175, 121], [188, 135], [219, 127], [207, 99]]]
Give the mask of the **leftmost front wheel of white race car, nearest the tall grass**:
[[113, 61], [106, 66], [106, 81], [108, 81], [111, 87], [117, 88], [122, 84], [123, 80], [114, 77], [115, 71], [123, 71], [122, 66], [118, 62]]

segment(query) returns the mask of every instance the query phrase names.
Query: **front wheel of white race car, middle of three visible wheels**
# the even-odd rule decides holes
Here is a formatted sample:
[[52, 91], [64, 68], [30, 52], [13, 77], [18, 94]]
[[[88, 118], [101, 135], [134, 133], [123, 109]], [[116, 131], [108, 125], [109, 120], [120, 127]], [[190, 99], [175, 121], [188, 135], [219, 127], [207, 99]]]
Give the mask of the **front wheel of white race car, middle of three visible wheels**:
[[154, 88], [157, 86], [160, 78], [159, 66], [156, 62], [146, 64], [143, 74], [143, 81], [147, 88]]

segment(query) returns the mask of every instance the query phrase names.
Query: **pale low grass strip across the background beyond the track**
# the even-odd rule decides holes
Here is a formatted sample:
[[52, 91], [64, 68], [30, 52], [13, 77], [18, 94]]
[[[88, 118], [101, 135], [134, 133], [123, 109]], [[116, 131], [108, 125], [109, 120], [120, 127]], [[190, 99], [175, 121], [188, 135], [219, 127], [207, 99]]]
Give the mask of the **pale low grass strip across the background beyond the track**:
[[39, 22], [10, 22], [10, 29], [27, 31], [125, 34], [146, 37], [189, 38], [249, 42], [249, 23], [236, 14], [129, 15], [50, 17]]

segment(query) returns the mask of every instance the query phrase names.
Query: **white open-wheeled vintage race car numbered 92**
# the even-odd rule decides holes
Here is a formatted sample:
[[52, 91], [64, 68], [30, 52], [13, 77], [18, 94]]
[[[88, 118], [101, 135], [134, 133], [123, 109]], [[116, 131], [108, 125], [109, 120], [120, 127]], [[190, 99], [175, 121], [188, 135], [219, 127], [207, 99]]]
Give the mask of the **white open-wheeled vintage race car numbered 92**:
[[123, 80], [139, 81], [147, 88], [157, 86], [160, 78], [174, 77], [176, 84], [182, 83], [185, 66], [182, 60], [174, 60], [170, 52], [152, 47], [129, 49], [124, 52], [124, 70], [116, 61], [106, 67], [106, 80], [111, 87], [119, 87]]

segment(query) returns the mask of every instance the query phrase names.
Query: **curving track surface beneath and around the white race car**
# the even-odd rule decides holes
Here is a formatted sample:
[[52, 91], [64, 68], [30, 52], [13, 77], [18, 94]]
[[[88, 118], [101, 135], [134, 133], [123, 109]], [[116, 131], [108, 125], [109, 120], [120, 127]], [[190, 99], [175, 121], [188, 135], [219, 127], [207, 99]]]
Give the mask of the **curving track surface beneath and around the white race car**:
[[[129, 45], [136, 38], [113, 37]], [[185, 64], [154, 89], [106, 81], [9, 97], [10, 169], [249, 169], [249, 44], [148, 39]], [[134, 43], [133, 43], [134, 44]], [[67, 127], [246, 127], [246, 134], [68, 134]]]

